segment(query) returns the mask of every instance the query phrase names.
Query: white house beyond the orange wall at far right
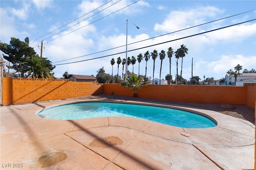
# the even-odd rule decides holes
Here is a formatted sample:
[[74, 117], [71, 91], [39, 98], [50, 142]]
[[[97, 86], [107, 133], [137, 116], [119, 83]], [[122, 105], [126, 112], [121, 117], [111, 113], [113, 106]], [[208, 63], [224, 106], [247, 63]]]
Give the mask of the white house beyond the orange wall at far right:
[[235, 77], [226, 73], [224, 85], [236, 85], [243, 86], [244, 83], [256, 83], [256, 73], [241, 73], [241, 75]]

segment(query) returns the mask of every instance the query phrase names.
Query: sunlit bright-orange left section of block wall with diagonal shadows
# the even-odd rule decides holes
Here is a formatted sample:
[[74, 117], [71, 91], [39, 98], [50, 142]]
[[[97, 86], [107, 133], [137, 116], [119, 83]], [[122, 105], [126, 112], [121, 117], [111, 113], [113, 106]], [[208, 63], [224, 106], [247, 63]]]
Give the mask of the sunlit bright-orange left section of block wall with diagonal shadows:
[[3, 77], [3, 105], [33, 103], [72, 97], [102, 94], [103, 84], [97, 82], [73, 82], [28, 80]]

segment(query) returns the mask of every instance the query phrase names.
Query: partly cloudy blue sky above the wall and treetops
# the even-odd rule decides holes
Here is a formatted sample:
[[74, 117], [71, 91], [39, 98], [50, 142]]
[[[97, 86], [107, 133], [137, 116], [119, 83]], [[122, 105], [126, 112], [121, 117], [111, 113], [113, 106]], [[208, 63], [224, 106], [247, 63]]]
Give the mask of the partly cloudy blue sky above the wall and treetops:
[[[242, 70], [256, 69], [255, 0], [1, 0], [0, 8], [0, 41], [9, 44], [12, 37], [21, 41], [28, 37], [39, 56], [43, 41], [42, 57], [56, 65], [57, 78], [65, 71], [96, 76], [102, 67], [111, 75], [110, 60], [126, 58], [126, 33], [127, 57], [144, 56], [154, 49], [167, 53], [169, 47], [176, 51], [186, 45], [182, 77], [187, 80], [192, 75], [202, 80], [204, 76], [221, 79], [238, 64]], [[171, 59], [174, 79], [176, 58]], [[178, 75], [181, 61], [178, 59]], [[158, 55], [154, 78], [160, 78], [160, 62]], [[142, 60], [139, 70], [137, 61], [134, 73], [145, 75], [145, 67]], [[161, 79], [169, 69], [166, 54]], [[128, 70], [132, 72], [132, 65]], [[117, 71], [115, 63], [113, 74]], [[153, 77], [152, 57], [146, 74]]]

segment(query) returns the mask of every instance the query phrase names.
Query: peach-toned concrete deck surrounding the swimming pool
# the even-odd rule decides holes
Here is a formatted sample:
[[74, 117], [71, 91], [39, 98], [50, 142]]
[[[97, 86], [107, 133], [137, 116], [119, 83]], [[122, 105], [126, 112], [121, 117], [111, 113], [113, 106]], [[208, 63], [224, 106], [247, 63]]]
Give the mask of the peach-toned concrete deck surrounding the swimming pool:
[[190, 109], [218, 122], [204, 129], [128, 117], [50, 120], [36, 116], [42, 109], [82, 101], [138, 103], [97, 97], [0, 107], [0, 169], [254, 169], [255, 125], [215, 111], [139, 101]]

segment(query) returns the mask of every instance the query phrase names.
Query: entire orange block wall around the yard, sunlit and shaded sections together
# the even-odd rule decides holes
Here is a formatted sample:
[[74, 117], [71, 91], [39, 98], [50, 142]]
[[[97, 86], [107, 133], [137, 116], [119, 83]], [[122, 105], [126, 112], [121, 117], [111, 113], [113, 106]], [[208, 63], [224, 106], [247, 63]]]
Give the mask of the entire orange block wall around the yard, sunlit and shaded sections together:
[[[88, 96], [93, 94], [133, 96], [131, 89], [120, 84], [96, 82], [73, 82], [34, 80], [3, 77], [3, 105], [32, 103]], [[239, 86], [208, 85], [147, 85], [138, 92], [138, 97], [190, 103], [216, 103], [246, 105], [255, 108], [256, 83]]]

